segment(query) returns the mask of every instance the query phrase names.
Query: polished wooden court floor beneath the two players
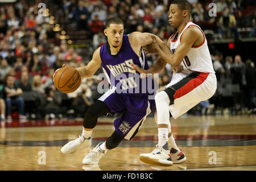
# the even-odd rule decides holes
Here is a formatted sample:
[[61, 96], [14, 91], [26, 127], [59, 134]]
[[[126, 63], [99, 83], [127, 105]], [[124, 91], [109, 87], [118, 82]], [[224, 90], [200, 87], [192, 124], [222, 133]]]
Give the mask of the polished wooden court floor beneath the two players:
[[2, 122], [0, 170], [256, 170], [256, 115], [183, 116], [171, 125], [187, 157], [184, 163], [161, 167], [139, 160], [157, 143], [154, 118], [148, 118], [133, 140], [123, 140], [98, 165], [88, 166], [82, 159], [113, 133], [113, 118], [100, 118], [92, 147], [71, 155], [61, 154], [60, 148], [81, 133], [81, 120]]

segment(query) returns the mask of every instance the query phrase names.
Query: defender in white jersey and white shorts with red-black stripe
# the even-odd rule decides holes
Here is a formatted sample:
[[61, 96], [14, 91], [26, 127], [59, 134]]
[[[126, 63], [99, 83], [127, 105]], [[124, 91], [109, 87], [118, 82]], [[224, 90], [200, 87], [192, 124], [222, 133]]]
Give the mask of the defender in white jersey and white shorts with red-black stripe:
[[176, 119], [199, 102], [212, 97], [217, 88], [204, 32], [189, 21], [191, 5], [185, 0], [175, 0], [169, 11], [169, 23], [177, 31], [169, 38], [167, 46], [156, 36], [153, 38], [156, 49], [148, 46], [150, 52], [157, 52], [160, 58], [147, 71], [134, 65], [141, 73], [158, 73], [168, 63], [175, 73], [166, 89], [155, 96], [158, 144], [150, 154], [140, 155], [143, 162], [161, 166], [186, 160], [171, 133], [170, 113]]

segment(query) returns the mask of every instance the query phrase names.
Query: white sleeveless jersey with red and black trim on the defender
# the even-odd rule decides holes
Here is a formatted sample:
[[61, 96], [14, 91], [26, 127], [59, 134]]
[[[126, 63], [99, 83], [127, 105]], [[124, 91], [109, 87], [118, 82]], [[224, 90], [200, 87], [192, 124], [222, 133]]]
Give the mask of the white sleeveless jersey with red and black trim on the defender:
[[[183, 34], [184, 30], [186, 30], [189, 26], [196, 26], [201, 30], [201, 28], [197, 24], [189, 21], [186, 24], [186, 26], [183, 28], [183, 31], [181, 32], [180, 35], [178, 35], [179, 33], [176, 31], [171, 36], [170, 49], [172, 53], [174, 53], [177, 46], [179, 46], [181, 35]], [[201, 31], [204, 35], [203, 30]], [[181, 64], [183, 65], [184, 69], [188, 69], [189, 71], [215, 73], [205, 35], [204, 35], [204, 42], [199, 46], [192, 46], [191, 49], [189, 49], [187, 55], [182, 60]]]

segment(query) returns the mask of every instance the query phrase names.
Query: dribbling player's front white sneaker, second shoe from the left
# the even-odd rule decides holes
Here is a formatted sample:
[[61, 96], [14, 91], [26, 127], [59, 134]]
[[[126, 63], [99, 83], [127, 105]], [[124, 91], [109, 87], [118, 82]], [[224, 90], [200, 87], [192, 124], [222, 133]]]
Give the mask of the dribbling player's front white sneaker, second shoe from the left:
[[100, 145], [102, 143], [103, 142], [99, 143], [95, 148], [93, 148], [93, 150], [90, 150], [90, 153], [87, 154], [82, 160], [82, 164], [98, 164], [102, 156], [105, 155], [107, 152], [105, 150], [100, 149]]

